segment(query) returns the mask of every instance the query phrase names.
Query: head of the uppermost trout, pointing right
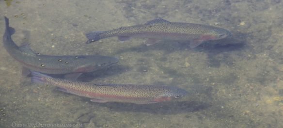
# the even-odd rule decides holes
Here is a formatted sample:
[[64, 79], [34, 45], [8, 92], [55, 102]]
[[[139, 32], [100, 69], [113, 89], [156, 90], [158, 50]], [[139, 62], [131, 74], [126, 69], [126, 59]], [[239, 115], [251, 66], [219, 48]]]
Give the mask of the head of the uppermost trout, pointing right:
[[202, 35], [201, 39], [203, 39], [203, 40], [218, 40], [218, 39], [228, 38], [228, 37], [231, 37], [231, 36], [232, 36], [232, 33], [229, 32], [228, 30], [217, 28], [217, 29], [212, 29], [209, 32]]

